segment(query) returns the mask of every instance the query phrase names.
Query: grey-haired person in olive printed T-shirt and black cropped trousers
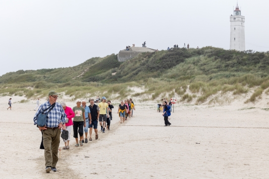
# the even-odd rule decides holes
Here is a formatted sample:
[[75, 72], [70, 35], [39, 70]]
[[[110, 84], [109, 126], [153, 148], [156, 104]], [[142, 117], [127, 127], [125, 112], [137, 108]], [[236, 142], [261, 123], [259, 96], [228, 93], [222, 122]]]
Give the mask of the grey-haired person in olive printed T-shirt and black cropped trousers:
[[[76, 139], [75, 147], [83, 146], [82, 136], [83, 136], [83, 126], [86, 127], [85, 120], [85, 109], [81, 106], [81, 100], [76, 100], [77, 106], [73, 107], [73, 111], [75, 113], [75, 117], [73, 120], [73, 130], [74, 130], [74, 138]], [[79, 133], [79, 144], [78, 144], [78, 133]]]

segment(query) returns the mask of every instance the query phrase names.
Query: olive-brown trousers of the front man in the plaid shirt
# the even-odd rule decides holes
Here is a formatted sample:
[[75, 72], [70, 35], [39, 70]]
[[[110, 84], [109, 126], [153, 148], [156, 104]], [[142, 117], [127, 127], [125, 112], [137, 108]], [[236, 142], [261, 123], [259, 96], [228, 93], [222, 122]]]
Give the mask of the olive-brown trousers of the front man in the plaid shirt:
[[45, 166], [56, 167], [56, 164], [58, 162], [60, 137], [61, 129], [47, 128], [46, 130], [43, 130]]

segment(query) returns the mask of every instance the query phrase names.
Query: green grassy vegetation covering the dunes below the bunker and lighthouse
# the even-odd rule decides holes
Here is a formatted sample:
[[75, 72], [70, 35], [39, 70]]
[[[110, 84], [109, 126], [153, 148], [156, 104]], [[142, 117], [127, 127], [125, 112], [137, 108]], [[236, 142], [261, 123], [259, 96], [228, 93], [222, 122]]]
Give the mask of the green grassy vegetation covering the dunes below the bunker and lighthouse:
[[71, 99], [99, 95], [143, 101], [176, 95], [181, 102], [198, 105], [217, 94], [253, 91], [245, 103], [254, 103], [262, 93], [269, 93], [268, 69], [269, 51], [177, 48], [142, 53], [125, 62], [112, 54], [74, 67], [9, 72], [0, 77], [0, 94], [33, 99], [53, 89]]

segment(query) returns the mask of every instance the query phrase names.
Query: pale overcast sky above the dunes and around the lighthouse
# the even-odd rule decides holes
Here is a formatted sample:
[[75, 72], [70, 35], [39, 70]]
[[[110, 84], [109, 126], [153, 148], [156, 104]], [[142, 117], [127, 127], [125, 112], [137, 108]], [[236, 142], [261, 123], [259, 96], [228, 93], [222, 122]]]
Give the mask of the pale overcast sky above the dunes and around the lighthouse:
[[[0, 75], [78, 65], [126, 45], [230, 48], [236, 0], [0, 0]], [[246, 49], [269, 51], [268, 0], [239, 0]]]

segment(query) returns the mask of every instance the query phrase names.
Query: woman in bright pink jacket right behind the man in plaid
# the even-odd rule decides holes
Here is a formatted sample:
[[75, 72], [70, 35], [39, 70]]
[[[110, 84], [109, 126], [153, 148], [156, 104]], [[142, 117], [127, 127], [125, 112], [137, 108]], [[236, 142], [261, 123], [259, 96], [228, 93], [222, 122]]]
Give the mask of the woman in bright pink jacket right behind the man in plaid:
[[73, 126], [72, 118], [75, 117], [75, 113], [72, 110], [72, 108], [66, 106], [66, 103], [62, 102], [61, 105], [62, 105], [63, 109], [65, 110], [66, 116], [68, 118], [68, 122], [66, 123], [66, 130], [68, 130], [68, 139], [64, 140], [65, 146], [63, 147], [63, 149], [69, 150], [70, 134], [71, 134], [72, 126]]

